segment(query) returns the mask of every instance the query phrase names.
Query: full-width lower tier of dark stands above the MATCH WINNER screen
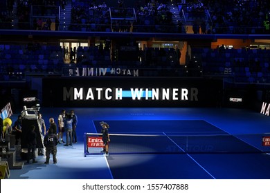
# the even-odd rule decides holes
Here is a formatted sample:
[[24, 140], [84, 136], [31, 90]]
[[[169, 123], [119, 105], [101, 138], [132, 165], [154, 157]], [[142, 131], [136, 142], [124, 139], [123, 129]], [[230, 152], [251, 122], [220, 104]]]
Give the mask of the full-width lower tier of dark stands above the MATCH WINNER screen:
[[[58, 73], [66, 63], [79, 68], [129, 68], [151, 70], [150, 76], [229, 76], [237, 82], [270, 82], [270, 50], [191, 48], [186, 65], [179, 65], [181, 55], [174, 48], [145, 48], [127, 53], [113, 50], [107, 45], [73, 48], [72, 52], [58, 45], [1, 44], [1, 81], [23, 79], [23, 74]], [[70, 54], [70, 55], [69, 55]], [[184, 54], [184, 53], [182, 53]], [[121, 59], [120, 59], [121, 58]], [[71, 61], [69, 61], [69, 59]], [[189, 60], [191, 59], [191, 60]], [[188, 72], [189, 71], [189, 72]], [[145, 71], [146, 72], [146, 71]], [[18, 77], [19, 74], [19, 77]]]

